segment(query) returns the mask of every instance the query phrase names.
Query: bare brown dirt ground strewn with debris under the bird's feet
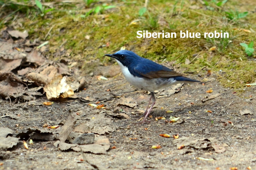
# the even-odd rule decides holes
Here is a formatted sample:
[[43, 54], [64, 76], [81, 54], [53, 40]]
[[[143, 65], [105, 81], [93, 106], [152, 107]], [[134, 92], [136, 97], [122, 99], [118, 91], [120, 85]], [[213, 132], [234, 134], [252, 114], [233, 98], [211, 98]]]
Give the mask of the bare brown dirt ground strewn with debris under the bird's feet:
[[[197, 80], [203, 78], [190, 74], [188, 77]], [[94, 121], [91, 131], [96, 137], [106, 136], [111, 145], [106, 154], [82, 154], [73, 150], [61, 151], [54, 146], [56, 140], [34, 139], [34, 144], [28, 144], [28, 149], [25, 149], [22, 140], [28, 140], [29, 137], [21, 137], [17, 146], [0, 151], [0, 169], [256, 168], [255, 88], [245, 87], [235, 92], [234, 89], [220, 86], [214, 76], [209, 80], [204, 86], [184, 84], [180, 91], [177, 90], [170, 97], [162, 95], [168, 89], [157, 92], [156, 107], [151, 113], [152, 118], [148, 118], [151, 121], [149, 124], [137, 122], [150, 95], [132, 87], [122, 74], [108, 80], [86, 76], [86, 90], [75, 94], [78, 97], [90, 98], [90, 101], [69, 99], [45, 106], [42, 103], [48, 101], [46, 96], [16, 104], [14, 101], [10, 103], [1, 99], [0, 127], [14, 130], [10, 136], [22, 136], [21, 133], [27, 132], [29, 128], [49, 130], [56, 134], [58, 129], [43, 128], [43, 125], [60, 125], [61, 128], [70, 112], [76, 120], [76, 128]], [[213, 92], [206, 93], [210, 89]], [[213, 95], [215, 98], [210, 99]], [[97, 101], [104, 104], [106, 109], [88, 106], [89, 103]], [[174, 112], [166, 113], [167, 110]], [[170, 116], [180, 119], [170, 123]], [[156, 120], [156, 117], [164, 117], [165, 120]], [[106, 124], [102, 118], [111, 121]], [[97, 126], [100, 129], [106, 129], [107, 126], [108, 130], [97, 134]], [[159, 134], [169, 134], [170, 138]], [[176, 134], [179, 134], [178, 139], [172, 137]], [[152, 146], [156, 145], [162, 148], [153, 149]]]

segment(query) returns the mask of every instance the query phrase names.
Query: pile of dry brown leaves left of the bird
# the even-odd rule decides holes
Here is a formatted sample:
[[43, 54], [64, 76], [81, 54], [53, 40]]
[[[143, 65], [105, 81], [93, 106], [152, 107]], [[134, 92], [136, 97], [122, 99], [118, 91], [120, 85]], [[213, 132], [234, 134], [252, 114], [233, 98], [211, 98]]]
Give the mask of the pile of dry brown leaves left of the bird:
[[[27, 32], [8, 31], [13, 38]], [[36, 46], [38, 41], [10, 39], [0, 42], [0, 96], [6, 100], [34, 100], [46, 93], [49, 100], [68, 98], [86, 84], [84, 78], [72, 74], [66, 62], [47, 60]], [[45, 46], [44, 50], [46, 50]], [[42, 48], [41, 47], [41, 48]], [[72, 76], [73, 75], [73, 76]], [[68, 77], [69, 76], [69, 77]], [[68, 78], [67, 78], [68, 77]], [[70, 82], [67, 82], [67, 79]], [[42, 90], [43, 89], [43, 90]]]

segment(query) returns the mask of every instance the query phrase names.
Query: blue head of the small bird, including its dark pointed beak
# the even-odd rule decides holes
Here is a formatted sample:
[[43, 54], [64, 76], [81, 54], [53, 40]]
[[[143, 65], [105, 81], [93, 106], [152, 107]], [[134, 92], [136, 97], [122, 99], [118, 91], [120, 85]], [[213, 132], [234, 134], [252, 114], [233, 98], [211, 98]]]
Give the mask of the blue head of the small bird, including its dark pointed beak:
[[112, 57], [121, 62], [124, 66], [128, 66], [141, 59], [140, 56], [129, 50], [120, 50], [114, 54], [105, 54], [105, 56]]

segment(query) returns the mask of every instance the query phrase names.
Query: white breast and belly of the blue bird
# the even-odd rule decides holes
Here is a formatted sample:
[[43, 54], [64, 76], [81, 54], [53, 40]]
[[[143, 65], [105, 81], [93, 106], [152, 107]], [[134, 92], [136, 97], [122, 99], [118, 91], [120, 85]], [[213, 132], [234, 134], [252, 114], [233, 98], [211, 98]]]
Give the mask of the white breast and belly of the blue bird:
[[166, 88], [171, 84], [177, 83], [176, 80], [174, 80], [173, 78], [169, 78], [168, 80], [161, 80], [158, 78], [149, 79], [149, 78], [140, 78], [140, 77], [133, 76], [128, 70], [128, 67], [124, 66], [118, 60], [116, 60], [116, 62], [121, 67], [121, 71], [124, 74], [124, 78], [136, 88], [154, 92], [154, 90]]

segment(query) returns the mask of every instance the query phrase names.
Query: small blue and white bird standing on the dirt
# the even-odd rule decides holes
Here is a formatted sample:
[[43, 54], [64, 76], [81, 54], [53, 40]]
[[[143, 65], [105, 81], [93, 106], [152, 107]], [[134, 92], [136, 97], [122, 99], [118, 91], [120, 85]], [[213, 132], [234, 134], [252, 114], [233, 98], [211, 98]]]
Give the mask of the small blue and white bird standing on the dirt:
[[[124, 78], [132, 84], [132, 86], [150, 92], [151, 96], [148, 106], [143, 116], [141, 116], [141, 118], [144, 117], [142, 122], [140, 122], [142, 124], [149, 122], [146, 121], [146, 119], [154, 104], [156, 104], [156, 98], [154, 96], [155, 90], [163, 89], [178, 83], [202, 83], [198, 80], [184, 77], [182, 74], [175, 72], [166, 66], [162, 66], [152, 60], [148, 60], [147, 58], [142, 58], [129, 50], [119, 50], [114, 54], [104, 55], [116, 60], [121, 68]], [[148, 110], [151, 100], [152, 104]]]

